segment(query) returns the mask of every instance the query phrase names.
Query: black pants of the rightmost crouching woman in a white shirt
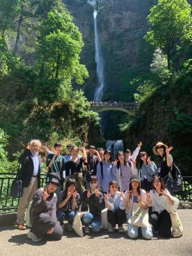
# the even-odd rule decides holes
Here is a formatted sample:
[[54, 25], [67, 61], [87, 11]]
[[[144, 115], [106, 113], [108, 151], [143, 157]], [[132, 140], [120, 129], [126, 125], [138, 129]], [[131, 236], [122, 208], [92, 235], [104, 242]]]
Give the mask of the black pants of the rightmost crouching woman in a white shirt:
[[161, 237], [171, 237], [171, 217], [169, 212], [164, 210], [160, 214], [158, 212], [151, 212], [149, 222], [152, 224], [154, 230], [158, 230]]

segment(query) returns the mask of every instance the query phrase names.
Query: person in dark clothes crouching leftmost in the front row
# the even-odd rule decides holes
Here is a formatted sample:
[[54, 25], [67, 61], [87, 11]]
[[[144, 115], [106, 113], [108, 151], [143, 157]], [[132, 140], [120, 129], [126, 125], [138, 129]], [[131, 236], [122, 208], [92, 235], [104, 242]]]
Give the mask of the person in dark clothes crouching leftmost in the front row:
[[32, 241], [41, 241], [45, 237], [60, 240], [63, 235], [56, 217], [57, 195], [55, 191], [58, 187], [58, 179], [52, 178], [45, 189], [37, 190], [33, 196], [30, 208], [32, 228], [28, 232], [28, 238]]

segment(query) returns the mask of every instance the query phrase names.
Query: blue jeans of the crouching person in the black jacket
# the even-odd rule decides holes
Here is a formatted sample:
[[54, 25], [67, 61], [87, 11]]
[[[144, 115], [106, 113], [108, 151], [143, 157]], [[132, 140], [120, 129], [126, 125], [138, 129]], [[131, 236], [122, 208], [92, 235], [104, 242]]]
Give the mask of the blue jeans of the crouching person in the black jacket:
[[99, 232], [101, 226], [101, 218], [99, 215], [93, 215], [90, 212], [85, 212], [81, 218], [81, 221], [86, 227], [91, 224], [93, 232]]

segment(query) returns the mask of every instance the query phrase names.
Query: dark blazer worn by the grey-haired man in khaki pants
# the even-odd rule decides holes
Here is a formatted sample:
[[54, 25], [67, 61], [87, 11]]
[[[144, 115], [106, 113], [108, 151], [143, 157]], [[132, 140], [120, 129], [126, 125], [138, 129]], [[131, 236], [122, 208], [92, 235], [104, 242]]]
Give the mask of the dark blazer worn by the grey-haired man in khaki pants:
[[[19, 170], [18, 179], [21, 179], [23, 188], [28, 188], [30, 180], [33, 175], [34, 165], [32, 161], [32, 154], [29, 149], [25, 149], [23, 154], [19, 157], [19, 163], [21, 163], [21, 169]], [[39, 170], [37, 174], [38, 185], [37, 188], [40, 188], [40, 174], [41, 174], [41, 158], [39, 158]]]

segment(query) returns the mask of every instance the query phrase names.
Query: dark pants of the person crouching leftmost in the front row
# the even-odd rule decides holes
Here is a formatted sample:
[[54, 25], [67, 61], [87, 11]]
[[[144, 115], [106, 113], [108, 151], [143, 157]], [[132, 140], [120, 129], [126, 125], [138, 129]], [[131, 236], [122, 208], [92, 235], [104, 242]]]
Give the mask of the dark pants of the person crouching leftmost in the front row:
[[[48, 230], [50, 230], [51, 228], [53, 228], [52, 234], [47, 235]], [[34, 221], [30, 231], [34, 233], [38, 238], [46, 237], [54, 240], [60, 240], [63, 235], [61, 225], [58, 221], [52, 219], [52, 217], [37, 219], [36, 221]]]

